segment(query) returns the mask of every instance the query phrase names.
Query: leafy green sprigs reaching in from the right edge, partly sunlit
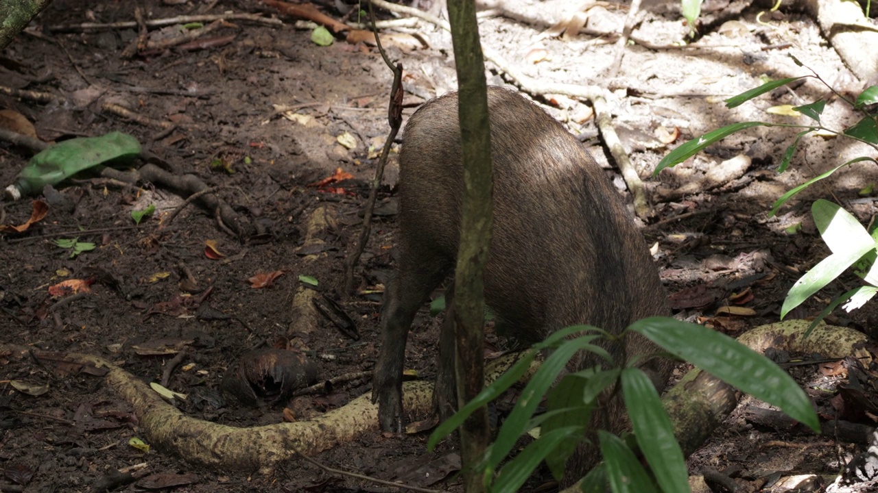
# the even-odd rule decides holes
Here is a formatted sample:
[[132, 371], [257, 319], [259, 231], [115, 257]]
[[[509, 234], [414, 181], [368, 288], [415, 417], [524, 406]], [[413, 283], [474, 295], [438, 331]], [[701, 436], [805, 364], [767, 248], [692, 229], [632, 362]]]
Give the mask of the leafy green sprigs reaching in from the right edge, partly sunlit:
[[[801, 61], [796, 60], [795, 57], [792, 58], [796, 65], [804, 67]], [[850, 104], [854, 111], [858, 111], [861, 114], [861, 118], [857, 123], [840, 131], [824, 126], [820, 122], [820, 116], [823, 114], [826, 102], [818, 100], [811, 104], [788, 108], [788, 110], [796, 111], [814, 120], [815, 123], [813, 125], [772, 124], [766, 122], [740, 122], [727, 125], [713, 132], [707, 132], [701, 137], [689, 140], [677, 147], [671, 151], [671, 153], [667, 154], [665, 159], [659, 161], [659, 166], [656, 168], [655, 173], [659, 173], [659, 171], [664, 168], [673, 167], [680, 162], [686, 161], [688, 158], [701, 152], [705, 147], [715, 143], [717, 140], [753, 126], [787, 126], [802, 129], [802, 132], [799, 132], [798, 135], [796, 135], [793, 144], [788, 146], [786, 152], [783, 154], [781, 165], [778, 167], [779, 173], [784, 172], [788, 168], [799, 141], [810, 132], [831, 132], [839, 137], [846, 137], [848, 139], [863, 142], [878, 151], [878, 112], [874, 111], [874, 105], [878, 104], [878, 86], [872, 86], [864, 90], [859, 96], [857, 96], [855, 101], [850, 101], [846, 99], [845, 96], [835, 91], [835, 89], [832, 89], [832, 87], [819, 75], [813, 71], [812, 74], [813, 75], [790, 77], [778, 81], [766, 82], [756, 89], [750, 89], [738, 96], [726, 99], [726, 106], [734, 108], [750, 101], [754, 97], [765, 94], [770, 90], [777, 89], [785, 84], [798, 81], [802, 78], [810, 77], [823, 82], [824, 85], [831, 89], [840, 100]], [[878, 164], [878, 161], [875, 161], [873, 157], [869, 156], [860, 156], [839, 164], [837, 167], [830, 169], [824, 174], [817, 175], [809, 181], [804, 182], [783, 194], [772, 205], [769, 217], [774, 216], [774, 214], [781, 208], [781, 205], [786, 203], [790, 198], [801, 192], [803, 189], [806, 189], [812, 184], [832, 175], [840, 168], [860, 161], [872, 161]], [[868, 286], [861, 286], [860, 288], [852, 289], [832, 300], [827, 309], [824, 310], [817, 320], [814, 321], [814, 325], [817, 325], [817, 322], [828, 315], [838, 306], [838, 304], [850, 299], [850, 303], [846, 304], [845, 308], [847, 311], [851, 311], [854, 308], [862, 306], [862, 304], [864, 304], [869, 298], [874, 297], [875, 292], [878, 292], [878, 289], [876, 289], [876, 286], [878, 286], [878, 273], [873, 272], [875, 249], [878, 247], [878, 244], [875, 242], [874, 232], [870, 235], [869, 232], [860, 225], [856, 218], [853, 218], [850, 213], [844, 211], [836, 204], [831, 204], [825, 200], [819, 200], [813, 205], [812, 214], [814, 216], [814, 222], [817, 224], [817, 229], [826, 242], [826, 245], [830, 247], [832, 254], [826, 257], [823, 261], [820, 261], [814, 268], [795, 282], [793, 287], [789, 290], [787, 298], [783, 302], [781, 318], [784, 318], [789, 311], [793, 310], [799, 304], [802, 304], [805, 299], [816, 293], [818, 290], [823, 289], [824, 286], [836, 279], [839, 275], [844, 273], [847, 268], [854, 264], [857, 264], [858, 266], [856, 273], [869, 284]]]

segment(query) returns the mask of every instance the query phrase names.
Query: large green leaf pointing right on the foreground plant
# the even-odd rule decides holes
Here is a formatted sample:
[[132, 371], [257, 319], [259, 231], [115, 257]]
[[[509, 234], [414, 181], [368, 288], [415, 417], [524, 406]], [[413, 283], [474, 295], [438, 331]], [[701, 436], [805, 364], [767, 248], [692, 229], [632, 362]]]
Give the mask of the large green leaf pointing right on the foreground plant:
[[786, 372], [725, 334], [673, 318], [644, 318], [629, 326], [683, 360], [759, 400], [774, 404], [791, 418], [819, 432], [810, 399]]

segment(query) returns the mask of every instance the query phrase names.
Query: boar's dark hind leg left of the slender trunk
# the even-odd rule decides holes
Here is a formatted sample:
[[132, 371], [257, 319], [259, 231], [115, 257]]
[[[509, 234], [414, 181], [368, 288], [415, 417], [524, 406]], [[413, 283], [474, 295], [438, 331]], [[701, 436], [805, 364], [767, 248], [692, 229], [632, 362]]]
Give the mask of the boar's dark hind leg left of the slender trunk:
[[452, 262], [435, 254], [403, 248], [396, 278], [385, 290], [381, 315], [382, 346], [372, 381], [378, 422], [389, 432], [402, 432], [402, 368], [408, 329], [414, 314], [450, 272]]

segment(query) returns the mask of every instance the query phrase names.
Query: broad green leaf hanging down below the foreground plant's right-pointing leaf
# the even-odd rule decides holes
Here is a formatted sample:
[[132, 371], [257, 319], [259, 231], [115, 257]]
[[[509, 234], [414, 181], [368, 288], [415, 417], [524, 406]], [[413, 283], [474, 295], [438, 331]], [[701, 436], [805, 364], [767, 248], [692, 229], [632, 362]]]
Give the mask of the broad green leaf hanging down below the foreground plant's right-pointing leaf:
[[673, 436], [671, 418], [668, 418], [650, 377], [639, 368], [625, 368], [622, 394], [637, 445], [661, 489], [680, 493], [690, 491], [683, 451]]

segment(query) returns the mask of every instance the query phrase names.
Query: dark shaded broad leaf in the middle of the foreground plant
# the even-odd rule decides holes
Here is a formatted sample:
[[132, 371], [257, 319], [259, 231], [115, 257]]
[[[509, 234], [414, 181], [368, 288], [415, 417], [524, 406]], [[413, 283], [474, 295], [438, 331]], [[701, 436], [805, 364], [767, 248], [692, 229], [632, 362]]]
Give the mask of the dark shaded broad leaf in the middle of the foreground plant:
[[[546, 455], [546, 465], [556, 479], [564, 476], [567, 459], [576, 450], [577, 444], [585, 436], [584, 425], [591, 418], [594, 404], [585, 405], [582, 401], [582, 392], [586, 381], [578, 375], [565, 375], [558, 385], [549, 390], [546, 398], [546, 406], [551, 410], [567, 410], [555, 412], [549, 418], [543, 419], [540, 432], [549, 433], [569, 426], [579, 426], [579, 433], [570, 435], [569, 439], [558, 442], [558, 446]], [[551, 412], [550, 411], [550, 412]]]

